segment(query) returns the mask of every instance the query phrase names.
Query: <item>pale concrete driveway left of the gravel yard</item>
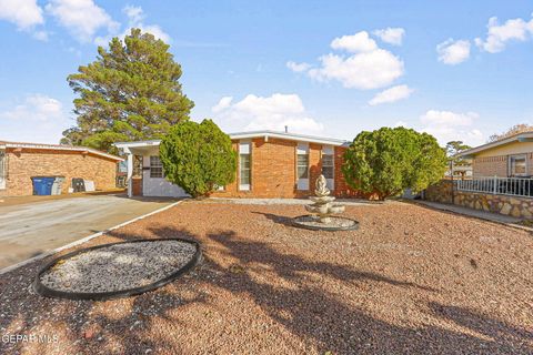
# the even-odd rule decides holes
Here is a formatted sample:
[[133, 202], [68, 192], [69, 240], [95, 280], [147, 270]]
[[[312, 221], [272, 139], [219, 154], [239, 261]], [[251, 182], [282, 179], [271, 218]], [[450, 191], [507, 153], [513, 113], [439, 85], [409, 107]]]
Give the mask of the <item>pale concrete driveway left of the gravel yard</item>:
[[0, 205], [0, 268], [173, 202], [175, 200], [130, 200], [122, 194]]

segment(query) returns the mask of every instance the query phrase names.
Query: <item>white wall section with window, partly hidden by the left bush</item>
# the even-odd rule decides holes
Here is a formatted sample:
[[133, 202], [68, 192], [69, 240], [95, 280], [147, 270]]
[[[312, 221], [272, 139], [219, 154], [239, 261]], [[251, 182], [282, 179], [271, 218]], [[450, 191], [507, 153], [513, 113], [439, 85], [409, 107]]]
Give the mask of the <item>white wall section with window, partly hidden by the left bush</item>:
[[142, 159], [142, 194], [152, 197], [189, 196], [181, 186], [174, 185], [163, 175], [163, 165], [158, 155], [145, 155]]

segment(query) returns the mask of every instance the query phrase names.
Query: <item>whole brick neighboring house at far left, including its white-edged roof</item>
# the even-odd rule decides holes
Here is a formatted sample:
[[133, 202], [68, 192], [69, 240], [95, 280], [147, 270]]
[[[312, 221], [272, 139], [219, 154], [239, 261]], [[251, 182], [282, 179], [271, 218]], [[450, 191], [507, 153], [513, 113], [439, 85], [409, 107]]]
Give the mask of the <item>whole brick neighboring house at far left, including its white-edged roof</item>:
[[64, 176], [63, 193], [73, 178], [93, 181], [97, 190], [112, 189], [120, 161], [90, 148], [0, 141], [0, 196], [31, 195], [32, 176]]

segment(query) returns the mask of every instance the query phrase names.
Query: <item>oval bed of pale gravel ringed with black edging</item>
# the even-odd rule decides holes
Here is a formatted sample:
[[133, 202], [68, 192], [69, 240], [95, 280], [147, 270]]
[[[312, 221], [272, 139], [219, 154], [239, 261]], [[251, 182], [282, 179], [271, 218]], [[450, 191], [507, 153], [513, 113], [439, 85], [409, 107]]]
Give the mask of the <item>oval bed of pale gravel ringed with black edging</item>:
[[197, 243], [177, 239], [99, 245], [46, 265], [36, 280], [36, 291], [72, 300], [140, 294], [178, 277], [198, 257]]

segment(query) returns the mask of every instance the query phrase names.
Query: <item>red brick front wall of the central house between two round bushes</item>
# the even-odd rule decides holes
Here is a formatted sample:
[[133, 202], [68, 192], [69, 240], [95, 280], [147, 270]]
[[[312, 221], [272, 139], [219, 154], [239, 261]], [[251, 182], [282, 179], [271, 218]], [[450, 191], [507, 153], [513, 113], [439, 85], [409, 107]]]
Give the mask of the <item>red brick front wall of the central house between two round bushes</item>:
[[[313, 194], [314, 182], [322, 171], [322, 145], [309, 144], [309, 191], [296, 190], [296, 141], [273, 138], [269, 138], [268, 142], [263, 138], [252, 140], [251, 190], [239, 191], [239, 173], [237, 173], [233, 183], [225, 186], [224, 191], [214, 192], [212, 195], [217, 197], [292, 199]], [[239, 150], [238, 141], [233, 142], [233, 149]], [[332, 191], [332, 194], [335, 196], [358, 196], [358, 193], [348, 187], [341, 172], [344, 151], [345, 148], [335, 148], [335, 190]]]

